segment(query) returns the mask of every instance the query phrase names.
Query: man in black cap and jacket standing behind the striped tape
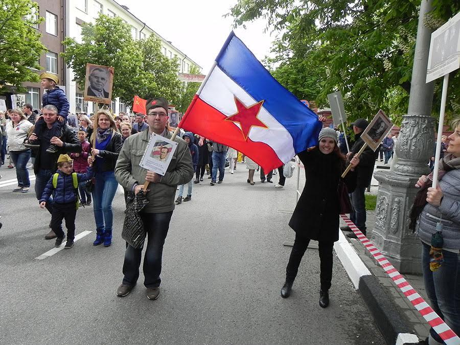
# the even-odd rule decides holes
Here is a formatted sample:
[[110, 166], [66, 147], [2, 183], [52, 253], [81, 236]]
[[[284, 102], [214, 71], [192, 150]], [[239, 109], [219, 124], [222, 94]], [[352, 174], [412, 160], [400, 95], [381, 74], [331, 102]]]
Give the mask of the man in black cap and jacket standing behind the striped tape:
[[[364, 141], [361, 139], [361, 133], [366, 129], [369, 123], [364, 119], [358, 119], [352, 123], [353, 132], [355, 133], [355, 143], [347, 154], [347, 158], [354, 157], [356, 153], [364, 145]], [[359, 156], [359, 165], [355, 168], [357, 172], [356, 189], [350, 194], [351, 201], [355, 212], [350, 214], [350, 220], [360, 229], [360, 231], [366, 235], [366, 203], [364, 192], [367, 187], [371, 185], [372, 174], [374, 173], [375, 159], [379, 154], [380, 149], [375, 152], [367, 146]], [[349, 226], [341, 226], [342, 231], [350, 231]], [[351, 232], [347, 234], [350, 238], [356, 238], [356, 235]]]

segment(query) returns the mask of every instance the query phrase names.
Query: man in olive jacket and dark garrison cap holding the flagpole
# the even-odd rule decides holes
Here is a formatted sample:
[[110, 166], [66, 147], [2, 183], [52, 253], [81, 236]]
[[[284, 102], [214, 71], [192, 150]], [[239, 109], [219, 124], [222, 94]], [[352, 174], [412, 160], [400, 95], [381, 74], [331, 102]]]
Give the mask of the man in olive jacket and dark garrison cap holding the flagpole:
[[[161, 282], [163, 245], [174, 210], [176, 189], [178, 185], [190, 181], [194, 172], [188, 145], [179, 136], [174, 139], [178, 145], [164, 176], [147, 171], [139, 165], [152, 133], [171, 138], [171, 133], [167, 129], [168, 101], [166, 99], [148, 100], [146, 114], [149, 128], [125, 140], [115, 167], [115, 177], [120, 185], [135, 194], [143, 188], [144, 181], [150, 182], [150, 187], [146, 191], [149, 203], [141, 213], [144, 230], [147, 233], [144, 285], [147, 288], [149, 300], [156, 300], [159, 296]], [[141, 257], [142, 248], [136, 249], [128, 245], [123, 264], [123, 283], [117, 289], [117, 296], [126, 296], [136, 284], [139, 278]]]

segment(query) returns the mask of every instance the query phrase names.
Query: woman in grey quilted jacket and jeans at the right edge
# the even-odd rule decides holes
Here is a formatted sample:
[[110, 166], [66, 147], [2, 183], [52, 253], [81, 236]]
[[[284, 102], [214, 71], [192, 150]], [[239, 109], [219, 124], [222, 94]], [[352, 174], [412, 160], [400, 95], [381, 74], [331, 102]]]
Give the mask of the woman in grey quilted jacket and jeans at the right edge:
[[[422, 269], [425, 288], [433, 310], [456, 333], [460, 334], [460, 118], [452, 121], [454, 132], [449, 136], [447, 151], [440, 161], [439, 185], [426, 192], [426, 204], [421, 211], [416, 229], [422, 240]], [[416, 187], [426, 188], [430, 175], [420, 177]], [[436, 224], [438, 228], [436, 228]], [[430, 270], [432, 236], [441, 230], [444, 261]], [[438, 258], [439, 259], [439, 258]], [[434, 265], [436, 266], [436, 265]], [[433, 267], [432, 267], [433, 268]], [[430, 329], [429, 344], [443, 343]]]

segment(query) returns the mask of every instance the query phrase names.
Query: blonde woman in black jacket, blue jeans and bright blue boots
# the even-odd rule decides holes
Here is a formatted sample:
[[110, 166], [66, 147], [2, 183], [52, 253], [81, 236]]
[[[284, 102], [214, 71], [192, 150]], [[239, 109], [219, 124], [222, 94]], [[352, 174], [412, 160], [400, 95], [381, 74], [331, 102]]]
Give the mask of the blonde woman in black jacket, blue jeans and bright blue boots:
[[92, 194], [96, 240], [93, 245], [104, 243], [104, 247], [108, 247], [112, 243], [112, 201], [118, 187], [113, 171], [122, 148], [122, 136], [107, 110], [99, 110], [95, 115], [94, 123], [96, 128], [90, 142], [93, 156], [88, 157], [88, 163], [94, 160], [95, 171]]

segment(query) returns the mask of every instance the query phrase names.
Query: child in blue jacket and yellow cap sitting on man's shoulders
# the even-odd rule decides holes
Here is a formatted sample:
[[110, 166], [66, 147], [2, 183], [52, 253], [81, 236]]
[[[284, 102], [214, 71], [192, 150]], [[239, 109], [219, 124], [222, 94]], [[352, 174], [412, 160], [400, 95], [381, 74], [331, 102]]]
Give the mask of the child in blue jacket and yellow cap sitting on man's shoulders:
[[[53, 128], [51, 129], [51, 137], [62, 135], [63, 127], [67, 123], [68, 109], [70, 104], [68, 103], [67, 96], [65, 96], [64, 91], [56, 86], [59, 83], [59, 77], [53, 73], [42, 73], [40, 74], [41, 86], [45, 89], [45, 93], [41, 99], [43, 106], [45, 105], [54, 105], [58, 109], [58, 118], [57, 121], [53, 123]], [[35, 123], [34, 134], [37, 136], [38, 140], [41, 139], [44, 126], [46, 126], [43, 118], [39, 118]], [[36, 141], [29, 141], [26, 143], [26, 147], [37, 148], [39, 144]], [[57, 147], [54, 144], [51, 144], [47, 149], [48, 153], [56, 153]]]

